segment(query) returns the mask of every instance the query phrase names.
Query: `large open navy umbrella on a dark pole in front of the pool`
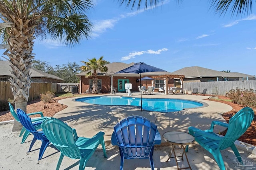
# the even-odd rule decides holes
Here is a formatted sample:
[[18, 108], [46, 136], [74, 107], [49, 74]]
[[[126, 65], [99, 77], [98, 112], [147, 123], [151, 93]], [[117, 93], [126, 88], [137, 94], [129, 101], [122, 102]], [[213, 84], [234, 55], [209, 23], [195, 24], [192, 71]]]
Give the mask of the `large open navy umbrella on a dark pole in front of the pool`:
[[[150, 66], [146, 63], [135, 63], [134, 65], [127, 67], [123, 70], [120, 70], [118, 72], [116, 72], [115, 74], [119, 74], [119, 73], [135, 73], [135, 74], [139, 74], [142, 72], [156, 72], [156, 71], [166, 71], [166, 70], [162, 70], [160, 68], [156, 68], [154, 66]], [[141, 74], [140, 74], [140, 87], [141, 87]], [[140, 90], [140, 109], [142, 111], [142, 94], [141, 94], [141, 90]]]

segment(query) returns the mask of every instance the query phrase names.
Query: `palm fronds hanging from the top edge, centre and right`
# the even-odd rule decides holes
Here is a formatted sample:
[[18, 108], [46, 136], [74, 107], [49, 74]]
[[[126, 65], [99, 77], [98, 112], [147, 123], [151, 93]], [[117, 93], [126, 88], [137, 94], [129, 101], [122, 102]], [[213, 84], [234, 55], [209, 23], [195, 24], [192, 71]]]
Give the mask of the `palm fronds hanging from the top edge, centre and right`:
[[[133, 9], [137, 6], [137, 10], [140, 6], [144, 6], [145, 9], [155, 8], [159, 5], [159, 2], [164, 3], [166, 0], [118, 0], [121, 5], [129, 6]], [[216, 12], [220, 14], [226, 14], [228, 10], [232, 15], [248, 14], [252, 11], [252, 4], [255, 0], [210, 0], [210, 7], [214, 8]], [[182, 2], [182, 0], [177, 0]]]

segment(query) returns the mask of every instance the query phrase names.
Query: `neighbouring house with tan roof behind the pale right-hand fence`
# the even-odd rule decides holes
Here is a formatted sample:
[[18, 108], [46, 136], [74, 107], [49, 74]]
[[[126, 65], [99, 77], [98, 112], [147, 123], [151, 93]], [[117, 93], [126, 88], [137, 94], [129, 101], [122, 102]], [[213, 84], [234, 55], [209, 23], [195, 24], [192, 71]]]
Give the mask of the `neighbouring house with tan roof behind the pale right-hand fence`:
[[252, 75], [239, 72], [221, 72], [199, 66], [184, 67], [172, 73], [184, 75], [184, 82], [255, 80], [255, 76]]

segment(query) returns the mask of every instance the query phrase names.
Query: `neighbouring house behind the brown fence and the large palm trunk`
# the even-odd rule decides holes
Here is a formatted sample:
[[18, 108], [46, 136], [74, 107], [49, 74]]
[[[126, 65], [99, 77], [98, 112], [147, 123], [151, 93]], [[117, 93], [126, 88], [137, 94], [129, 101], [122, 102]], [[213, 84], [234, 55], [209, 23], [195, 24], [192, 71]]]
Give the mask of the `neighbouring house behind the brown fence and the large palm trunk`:
[[[10, 70], [11, 67], [8, 61], [0, 61], [0, 81], [9, 81], [9, 78], [12, 76]], [[36, 68], [31, 68], [30, 73], [32, 82], [60, 83], [65, 81], [62, 78], [42, 72]]]

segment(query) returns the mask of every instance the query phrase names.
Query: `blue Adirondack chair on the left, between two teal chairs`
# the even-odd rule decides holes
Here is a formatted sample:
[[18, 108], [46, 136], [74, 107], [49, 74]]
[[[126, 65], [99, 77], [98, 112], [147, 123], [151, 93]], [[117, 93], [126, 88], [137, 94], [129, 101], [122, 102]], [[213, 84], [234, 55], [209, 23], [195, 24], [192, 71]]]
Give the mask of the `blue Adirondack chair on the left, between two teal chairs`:
[[36, 123], [33, 124], [32, 121], [31, 121], [31, 118], [22, 109], [17, 109], [17, 115], [18, 115], [18, 118], [20, 120], [20, 123], [26, 128], [27, 131], [29, 131], [30, 133], [32, 133], [34, 135], [34, 138], [33, 138], [32, 142], [30, 144], [28, 152], [30, 152], [34, 143], [37, 140], [42, 141], [42, 145], [41, 145], [40, 151], [39, 151], [38, 160], [42, 159], [44, 151], [46, 150], [46, 148], [48, 147], [48, 145], [50, 143], [50, 141], [44, 135], [44, 132], [43, 131], [37, 131], [36, 128], [34, 127], [36, 124], [39, 125], [42, 122], [36, 122]]

